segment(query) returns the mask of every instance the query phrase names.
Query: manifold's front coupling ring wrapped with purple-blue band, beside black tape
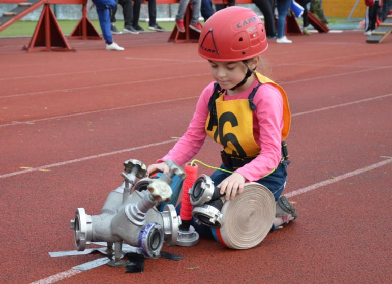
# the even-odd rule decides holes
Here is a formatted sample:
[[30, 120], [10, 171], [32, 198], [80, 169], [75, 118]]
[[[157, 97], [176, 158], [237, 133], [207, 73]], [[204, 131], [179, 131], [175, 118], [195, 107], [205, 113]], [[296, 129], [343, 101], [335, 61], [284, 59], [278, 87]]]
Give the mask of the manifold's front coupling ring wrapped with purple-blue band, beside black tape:
[[163, 246], [162, 226], [158, 223], [145, 225], [139, 233], [138, 244], [146, 257], [158, 258]]

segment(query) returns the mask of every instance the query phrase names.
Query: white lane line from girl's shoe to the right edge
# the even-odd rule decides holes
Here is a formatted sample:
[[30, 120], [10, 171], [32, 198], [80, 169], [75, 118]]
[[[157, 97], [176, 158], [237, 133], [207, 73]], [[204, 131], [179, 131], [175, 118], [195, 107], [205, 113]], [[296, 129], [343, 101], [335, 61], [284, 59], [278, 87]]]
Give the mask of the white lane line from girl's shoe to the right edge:
[[341, 176], [338, 176], [338, 177], [334, 177], [333, 179], [329, 179], [329, 180], [326, 180], [326, 181], [322, 181], [322, 182], [313, 184], [311, 186], [307, 186], [307, 187], [304, 187], [304, 188], [301, 188], [301, 189], [298, 189], [298, 190], [294, 190], [292, 192], [284, 194], [284, 196], [286, 196], [286, 197], [293, 197], [293, 196], [296, 196], [296, 195], [299, 195], [299, 194], [303, 194], [303, 193], [306, 193], [308, 191], [312, 191], [312, 190], [315, 190], [317, 188], [320, 188], [322, 186], [326, 186], [326, 185], [329, 185], [329, 184], [332, 184], [332, 183], [335, 183], [335, 182], [338, 182], [338, 181], [341, 181], [341, 180], [344, 180], [344, 179], [347, 179], [347, 178], [351, 178], [353, 176], [360, 175], [362, 173], [365, 173], [367, 171], [371, 171], [372, 169], [378, 168], [380, 166], [384, 166], [384, 165], [389, 164], [389, 163], [392, 163], [392, 159], [384, 160], [384, 161], [381, 161], [379, 163], [375, 163], [375, 164], [372, 164], [372, 165], [369, 165], [369, 166], [365, 166], [363, 168], [356, 169], [355, 171], [352, 171], [350, 173], [347, 173], [347, 174], [344, 174], [344, 175], [341, 175]]

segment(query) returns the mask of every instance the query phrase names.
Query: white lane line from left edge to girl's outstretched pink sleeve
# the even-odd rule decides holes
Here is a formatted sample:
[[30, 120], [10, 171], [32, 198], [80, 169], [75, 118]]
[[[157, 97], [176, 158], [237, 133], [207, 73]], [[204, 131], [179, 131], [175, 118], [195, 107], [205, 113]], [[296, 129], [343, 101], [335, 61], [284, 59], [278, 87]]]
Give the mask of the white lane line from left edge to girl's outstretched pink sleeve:
[[13, 177], [13, 176], [18, 176], [18, 175], [22, 175], [22, 174], [26, 174], [26, 173], [30, 173], [30, 172], [37, 172], [37, 171], [41, 171], [42, 169], [45, 169], [45, 168], [52, 168], [52, 167], [56, 167], [56, 166], [62, 166], [62, 165], [72, 164], [72, 163], [77, 163], [77, 162], [83, 162], [83, 161], [87, 161], [87, 160], [91, 160], [91, 159], [111, 156], [111, 155], [120, 154], [120, 153], [124, 153], [124, 152], [132, 152], [132, 151], [135, 151], [135, 150], [140, 150], [140, 149], [145, 149], [145, 148], [149, 148], [149, 147], [160, 146], [160, 145], [164, 145], [164, 144], [173, 143], [173, 142], [175, 142], [177, 140], [178, 139], [171, 139], [171, 140], [166, 140], [166, 141], [162, 141], [162, 142], [142, 145], [142, 146], [138, 146], [138, 147], [133, 147], [133, 148], [128, 148], [128, 149], [123, 149], [123, 150], [118, 150], [118, 151], [107, 152], [107, 153], [103, 153], [103, 154], [98, 154], [98, 155], [78, 158], [78, 159], [74, 159], [74, 160], [54, 163], [54, 164], [50, 164], [50, 165], [34, 167], [34, 168], [31, 168], [31, 169], [25, 169], [24, 171], [18, 171], [18, 172], [13, 172], [13, 173], [9, 173], [9, 174], [0, 175], [0, 179], [9, 178], [9, 177]]

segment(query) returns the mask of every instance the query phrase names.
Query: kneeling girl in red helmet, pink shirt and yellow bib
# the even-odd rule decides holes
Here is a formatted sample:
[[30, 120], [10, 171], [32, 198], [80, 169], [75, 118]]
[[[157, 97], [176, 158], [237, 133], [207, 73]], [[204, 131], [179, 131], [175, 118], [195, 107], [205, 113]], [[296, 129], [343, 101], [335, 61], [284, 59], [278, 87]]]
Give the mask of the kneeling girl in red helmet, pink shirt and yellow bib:
[[[191, 160], [208, 135], [224, 147], [221, 168], [233, 172], [211, 175], [220, 193], [234, 200], [245, 182], [266, 186], [276, 200], [276, 229], [297, 213], [281, 196], [289, 164], [284, 143], [291, 122], [287, 96], [277, 83], [255, 71], [267, 47], [264, 25], [250, 9], [229, 7], [205, 22], [198, 53], [208, 60], [215, 81], [201, 93], [186, 133], [166, 156], [148, 166], [148, 173], [167, 173], [164, 161], [169, 159], [177, 164]], [[212, 237], [210, 230], [200, 232], [198, 225], [195, 229]]]

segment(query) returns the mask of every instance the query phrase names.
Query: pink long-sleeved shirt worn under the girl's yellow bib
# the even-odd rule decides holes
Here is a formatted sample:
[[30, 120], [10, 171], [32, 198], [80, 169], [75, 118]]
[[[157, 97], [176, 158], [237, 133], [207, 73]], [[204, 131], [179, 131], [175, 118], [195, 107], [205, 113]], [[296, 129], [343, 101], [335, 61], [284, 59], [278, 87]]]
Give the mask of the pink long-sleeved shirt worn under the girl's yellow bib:
[[[255, 79], [245, 91], [234, 96], [224, 95], [224, 100], [248, 99], [249, 94], [258, 84]], [[196, 105], [196, 111], [185, 134], [174, 147], [157, 162], [173, 160], [184, 164], [191, 160], [203, 146], [205, 137], [205, 122], [208, 117], [208, 102], [214, 91], [214, 82], [201, 93]], [[281, 141], [283, 128], [283, 99], [279, 90], [271, 84], [262, 84], [257, 90], [253, 103], [253, 135], [260, 146], [260, 154], [250, 163], [236, 169], [248, 181], [257, 181], [268, 175], [279, 165], [281, 160]]]

